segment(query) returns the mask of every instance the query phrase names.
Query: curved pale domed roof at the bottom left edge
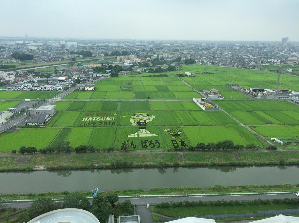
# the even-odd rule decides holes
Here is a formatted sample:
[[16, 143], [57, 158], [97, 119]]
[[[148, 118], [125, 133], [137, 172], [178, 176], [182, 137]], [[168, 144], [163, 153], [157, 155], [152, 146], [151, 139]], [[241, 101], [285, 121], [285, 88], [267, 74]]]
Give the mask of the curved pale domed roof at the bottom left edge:
[[37, 216], [28, 223], [100, 223], [100, 221], [89, 211], [64, 208]]

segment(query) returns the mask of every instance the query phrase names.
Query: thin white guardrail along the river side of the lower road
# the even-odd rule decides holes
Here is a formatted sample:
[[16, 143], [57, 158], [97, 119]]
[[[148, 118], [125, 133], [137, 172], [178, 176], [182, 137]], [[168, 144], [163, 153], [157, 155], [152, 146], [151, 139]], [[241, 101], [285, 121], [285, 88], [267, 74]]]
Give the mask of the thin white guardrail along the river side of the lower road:
[[[130, 198], [130, 197], [196, 197], [196, 196], [231, 196], [231, 195], [265, 195], [265, 194], [291, 194], [298, 193], [298, 191], [290, 192], [260, 192], [260, 193], [205, 193], [205, 194], [167, 194], [167, 195], [126, 195], [118, 196], [119, 198]], [[86, 197], [86, 199], [92, 199], [93, 197]], [[63, 198], [52, 199], [54, 201], [64, 200]], [[31, 200], [7, 200], [5, 202], [30, 202]]]

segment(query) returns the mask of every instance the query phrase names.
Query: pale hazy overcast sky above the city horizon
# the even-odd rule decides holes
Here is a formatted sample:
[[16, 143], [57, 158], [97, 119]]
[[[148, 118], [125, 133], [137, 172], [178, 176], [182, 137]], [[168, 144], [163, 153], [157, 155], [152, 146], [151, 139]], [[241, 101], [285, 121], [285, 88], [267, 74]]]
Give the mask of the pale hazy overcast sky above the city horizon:
[[0, 36], [299, 41], [299, 0], [0, 0]]

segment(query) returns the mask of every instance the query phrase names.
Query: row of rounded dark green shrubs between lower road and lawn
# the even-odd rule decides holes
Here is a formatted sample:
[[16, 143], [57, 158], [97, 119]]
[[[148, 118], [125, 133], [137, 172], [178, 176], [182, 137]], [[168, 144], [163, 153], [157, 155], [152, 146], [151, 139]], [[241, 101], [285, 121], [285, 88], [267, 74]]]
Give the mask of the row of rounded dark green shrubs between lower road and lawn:
[[[285, 198], [285, 199], [273, 199], [272, 201], [273, 204], [299, 204], [298, 198]], [[271, 204], [270, 199], [254, 199], [254, 200], [249, 200], [249, 201], [239, 201], [239, 200], [229, 200], [226, 201], [224, 199], [217, 200], [217, 201], [187, 201], [184, 200], [184, 202], [162, 202], [155, 204], [155, 207], [162, 207], [162, 208], [169, 208], [169, 207], [196, 207], [196, 206], [234, 206], [234, 205], [258, 205], [258, 204]]]

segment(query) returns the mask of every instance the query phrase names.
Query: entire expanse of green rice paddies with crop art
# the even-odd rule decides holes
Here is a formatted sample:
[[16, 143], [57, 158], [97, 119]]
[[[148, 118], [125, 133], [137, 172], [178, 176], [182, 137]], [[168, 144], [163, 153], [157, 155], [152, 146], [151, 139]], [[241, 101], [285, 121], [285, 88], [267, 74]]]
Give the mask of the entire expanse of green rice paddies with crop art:
[[[166, 150], [226, 139], [244, 146], [263, 146], [263, 137], [299, 141], [299, 106], [283, 100], [248, 100], [249, 96], [225, 86], [273, 88], [276, 73], [213, 66], [208, 67], [212, 73], [202, 74], [204, 71], [205, 66], [191, 65], [172, 72], [190, 72], [195, 77], [179, 78], [168, 72], [167, 77], [133, 75], [94, 82], [94, 91], [76, 91], [56, 101], [58, 113], [45, 127], [0, 135], [0, 141], [5, 142], [0, 152], [18, 150], [23, 145], [39, 149], [60, 141], [70, 141], [73, 147], [83, 144], [99, 148], [120, 148], [129, 142], [130, 150]], [[281, 88], [299, 91], [296, 77], [282, 74], [280, 80]], [[212, 88], [221, 91], [225, 99], [233, 99], [213, 101], [224, 111], [203, 111], [192, 101], [193, 97], [202, 97], [196, 91]], [[15, 92], [10, 97], [6, 93], [1, 92], [0, 99], [22, 98], [22, 93], [31, 92]], [[37, 97], [42, 98], [33, 98]], [[3, 103], [7, 107], [19, 102]], [[0, 101], [0, 107], [3, 103]], [[34, 136], [44, 140], [33, 140]], [[22, 140], [8, 143], [15, 137]]]

